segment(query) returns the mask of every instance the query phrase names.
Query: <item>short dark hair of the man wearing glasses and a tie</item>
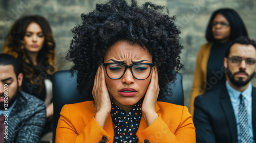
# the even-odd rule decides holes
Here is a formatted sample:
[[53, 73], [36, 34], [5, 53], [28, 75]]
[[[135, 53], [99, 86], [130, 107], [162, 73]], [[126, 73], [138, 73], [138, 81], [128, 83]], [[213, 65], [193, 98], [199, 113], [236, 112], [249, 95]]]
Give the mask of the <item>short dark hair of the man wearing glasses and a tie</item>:
[[230, 53], [230, 48], [231, 48], [231, 46], [232, 46], [233, 44], [235, 44], [235, 43], [244, 44], [244, 45], [249, 45], [249, 44], [251, 44], [251, 45], [253, 45], [254, 48], [256, 49], [256, 42], [255, 42], [254, 40], [250, 39], [250, 38], [247, 37], [247, 36], [241, 36], [241, 37], [239, 37], [239, 38], [237, 38], [237, 39], [235, 39], [235, 40], [233, 40], [233, 41], [231, 41], [231, 42], [229, 43], [229, 45], [227, 46], [226, 53], [225, 53], [225, 57], [226, 57], [226, 58], [228, 58], [228, 55], [229, 55], [229, 53]]

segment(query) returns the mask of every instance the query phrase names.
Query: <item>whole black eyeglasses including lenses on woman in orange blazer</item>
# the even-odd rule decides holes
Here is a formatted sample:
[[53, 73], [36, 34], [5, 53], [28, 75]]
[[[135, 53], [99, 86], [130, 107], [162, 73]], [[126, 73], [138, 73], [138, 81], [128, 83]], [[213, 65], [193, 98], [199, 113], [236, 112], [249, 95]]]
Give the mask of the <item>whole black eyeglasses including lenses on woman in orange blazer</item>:
[[144, 80], [150, 77], [151, 69], [154, 63], [136, 63], [125, 65], [122, 63], [103, 63], [106, 69], [106, 75], [111, 79], [120, 79], [127, 68], [131, 69], [131, 73], [135, 79]]

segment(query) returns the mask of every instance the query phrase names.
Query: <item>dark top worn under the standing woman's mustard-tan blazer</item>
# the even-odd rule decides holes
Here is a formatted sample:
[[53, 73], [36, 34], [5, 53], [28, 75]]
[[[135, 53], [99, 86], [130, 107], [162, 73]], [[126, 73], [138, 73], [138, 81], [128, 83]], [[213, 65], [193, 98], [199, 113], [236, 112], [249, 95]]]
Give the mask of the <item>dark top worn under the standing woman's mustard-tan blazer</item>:
[[207, 63], [207, 84], [206, 91], [217, 89], [225, 85], [224, 57], [228, 42], [213, 43]]

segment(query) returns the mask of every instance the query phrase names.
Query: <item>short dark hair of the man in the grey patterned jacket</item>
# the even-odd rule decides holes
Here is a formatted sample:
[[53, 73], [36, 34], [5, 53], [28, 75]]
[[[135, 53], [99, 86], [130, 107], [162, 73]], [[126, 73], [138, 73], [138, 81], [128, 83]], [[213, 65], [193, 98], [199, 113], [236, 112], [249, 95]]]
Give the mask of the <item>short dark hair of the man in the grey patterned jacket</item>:
[[12, 65], [14, 68], [14, 73], [16, 76], [19, 74], [19, 65], [18, 61], [8, 54], [0, 54], [0, 65]]

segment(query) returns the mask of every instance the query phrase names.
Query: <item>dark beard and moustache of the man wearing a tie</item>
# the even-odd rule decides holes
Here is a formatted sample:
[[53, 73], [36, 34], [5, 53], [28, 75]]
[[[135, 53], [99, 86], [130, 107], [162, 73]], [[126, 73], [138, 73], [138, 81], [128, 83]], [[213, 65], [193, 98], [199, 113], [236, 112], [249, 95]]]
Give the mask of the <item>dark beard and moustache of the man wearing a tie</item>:
[[[229, 70], [228, 67], [227, 67], [226, 70], [227, 70], [227, 76], [228, 76], [230, 82], [231, 82], [233, 85], [237, 86], [237, 87], [245, 86], [246, 84], [248, 84], [248, 83], [251, 81], [251, 79], [252, 79], [253, 76], [254, 76], [254, 73], [249, 76], [249, 75], [245, 72], [245, 70], [243, 70], [243, 69], [240, 69], [238, 72], [236, 72], [236, 73], [234, 73], [234, 74], [231, 73], [231, 71]], [[239, 73], [244, 73], [244, 74], [246, 74], [246, 76], [248, 77], [248, 79], [245, 80], [245, 81], [243, 81], [242, 78], [239, 78], [239, 80], [234, 79], [234, 76], [237, 75], [237, 74], [239, 74]]]

